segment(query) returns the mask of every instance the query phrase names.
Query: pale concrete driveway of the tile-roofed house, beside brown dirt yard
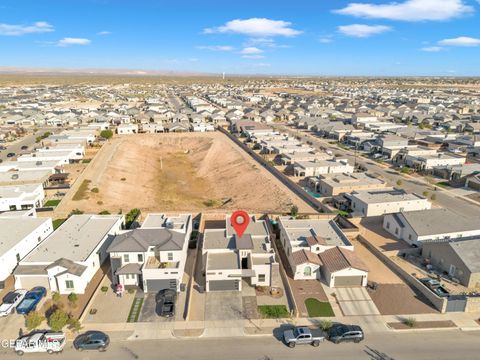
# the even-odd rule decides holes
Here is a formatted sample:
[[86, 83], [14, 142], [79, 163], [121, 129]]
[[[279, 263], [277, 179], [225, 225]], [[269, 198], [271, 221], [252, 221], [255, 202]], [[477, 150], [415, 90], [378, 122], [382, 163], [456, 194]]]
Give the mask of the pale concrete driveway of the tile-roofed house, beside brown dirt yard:
[[380, 315], [372, 298], [363, 287], [337, 288], [335, 294], [345, 316]]

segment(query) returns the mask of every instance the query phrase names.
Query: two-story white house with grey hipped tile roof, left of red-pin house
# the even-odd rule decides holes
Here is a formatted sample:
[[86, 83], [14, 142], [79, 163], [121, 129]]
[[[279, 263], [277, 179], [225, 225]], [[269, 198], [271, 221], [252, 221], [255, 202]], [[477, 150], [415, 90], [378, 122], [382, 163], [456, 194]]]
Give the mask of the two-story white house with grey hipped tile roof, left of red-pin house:
[[180, 291], [191, 233], [190, 214], [149, 214], [140, 228], [118, 234], [107, 250], [114, 285]]

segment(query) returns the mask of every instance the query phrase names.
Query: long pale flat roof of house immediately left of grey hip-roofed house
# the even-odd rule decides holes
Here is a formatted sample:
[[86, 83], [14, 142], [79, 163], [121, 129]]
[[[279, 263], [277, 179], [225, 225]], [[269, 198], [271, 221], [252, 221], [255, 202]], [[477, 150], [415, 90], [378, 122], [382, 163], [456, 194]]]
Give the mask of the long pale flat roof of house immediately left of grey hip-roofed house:
[[51, 263], [60, 258], [85, 261], [122, 215], [72, 215], [22, 261]]

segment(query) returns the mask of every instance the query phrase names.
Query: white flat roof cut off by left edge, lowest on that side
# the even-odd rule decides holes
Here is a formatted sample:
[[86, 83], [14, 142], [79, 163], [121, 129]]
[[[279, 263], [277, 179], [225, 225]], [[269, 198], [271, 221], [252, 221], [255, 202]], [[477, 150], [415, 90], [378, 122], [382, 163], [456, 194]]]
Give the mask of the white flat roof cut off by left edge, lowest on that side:
[[0, 229], [2, 229], [0, 255], [5, 254], [25, 237], [48, 222], [51, 222], [50, 218], [13, 217], [0, 214]]

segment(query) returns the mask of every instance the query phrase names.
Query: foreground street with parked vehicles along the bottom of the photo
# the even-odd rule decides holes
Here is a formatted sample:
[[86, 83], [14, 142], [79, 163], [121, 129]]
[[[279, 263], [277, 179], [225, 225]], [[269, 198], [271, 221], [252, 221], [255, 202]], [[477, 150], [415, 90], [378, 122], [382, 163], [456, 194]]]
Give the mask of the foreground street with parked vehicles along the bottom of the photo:
[[[478, 359], [480, 333], [431, 331], [371, 335], [360, 344], [322, 343], [290, 349], [274, 337], [244, 337], [195, 340], [112, 340], [104, 353], [77, 352], [68, 343], [54, 359], [168, 359], [168, 360], [452, 360]], [[12, 350], [2, 348], [2, 359], [18, 359]], [[25, 354], [25, 359], [52, 359], [47, 354]]]

